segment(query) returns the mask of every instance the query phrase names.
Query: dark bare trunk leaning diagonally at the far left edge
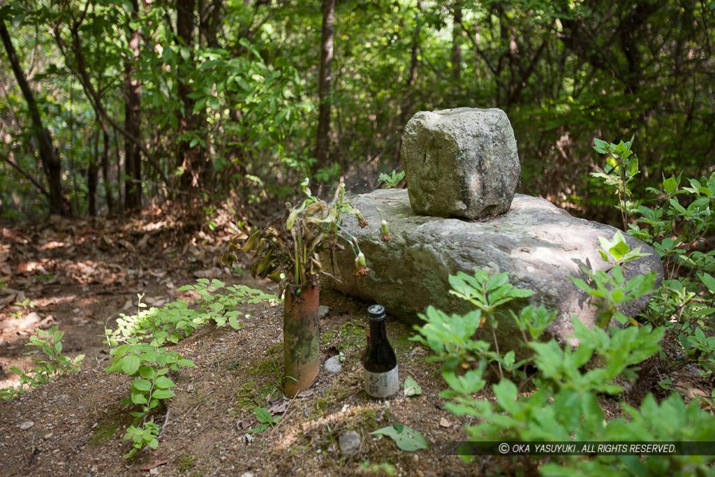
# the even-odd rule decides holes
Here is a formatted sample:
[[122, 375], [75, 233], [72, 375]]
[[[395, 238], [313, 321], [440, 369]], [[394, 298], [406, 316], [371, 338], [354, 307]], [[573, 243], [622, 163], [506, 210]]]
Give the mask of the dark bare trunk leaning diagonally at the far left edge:
[[49, 186], [49, 210], [52, 214], [66, 215], [66, 210], [63, 207], [64, 199], [62, 197], [61, 183], [62, 168], [59, 155], [54, 148], [54, 144], [52, 143], [52, 136], [49, 129], [44, 127], [44, 124], [42, 123], [37, 103], [29, 84], [27, 84], [25, 73], [20, 67], [20, 61], [17, 58], [15, 47], [12, 45], [10, 34], [5, 26], [5, 21], [0, 21], [0, 37], [2, 38], [5, 51], [7, 52], [7, 57], [10, 61], [10, 66], [12, 67], [12, 72], [14, 73], [17, 84], [22, 91], [22, 96], [25, 98], [27, 109], [29, 110], [32, 120], [32, 130], [35, 139], [37, 140], [40, 152], [40, 161], [47, 176], [47, 184]]

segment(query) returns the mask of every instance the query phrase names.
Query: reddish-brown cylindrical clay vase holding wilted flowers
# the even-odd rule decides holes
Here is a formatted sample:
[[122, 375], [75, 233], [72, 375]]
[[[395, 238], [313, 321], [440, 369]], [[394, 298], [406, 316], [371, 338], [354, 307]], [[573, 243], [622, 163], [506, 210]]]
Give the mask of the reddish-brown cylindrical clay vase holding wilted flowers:
[[283, 310], [285, 393], [295, 397], [310, 387], [320, 370], [320, 288], [288, 285]]

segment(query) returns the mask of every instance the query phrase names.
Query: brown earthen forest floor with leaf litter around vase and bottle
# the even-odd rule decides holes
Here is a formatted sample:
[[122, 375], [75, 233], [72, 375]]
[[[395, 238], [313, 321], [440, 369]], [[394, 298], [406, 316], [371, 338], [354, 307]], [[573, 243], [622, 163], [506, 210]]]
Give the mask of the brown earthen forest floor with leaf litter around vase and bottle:
[[[136, 313], [137, 294], [155, 306], [193, 300], [193, 292], [177, 289], [199, 277], [270, 292], [275, 285], [220, 265], [228, 232], [188, 234], [159, 210], [145, 210], [133, 221], [51, 217], [0, 230], [0, 388], [18, 383], [10, 366], [32, 367], [23, 352], [37, 326], [58, 325], [65, 332], [62, 354], [85, 355], [81, 372], [0, 403], [4, 475], [467, 476], [493, 468], [492, 457], [465, 463], [450, 455], [453, 443], [465, 439], [468, 421], [445, 410], [438, 365], [408, 340], [414, 332], [407, 325], [388, 320], [388, 335], [400, 384], [411, 376], [422, 393], [405, 397], [400, 388], [384, 401], [365, 394], [360, 352], [368, 304], [327, 291], [321, 296], [329, 311], [320, 321], [320, 349], [323, 359], [343, 354], [339, 373], [321, 369], [302, 397], [284, 398], [278, 386], [282, 310], [277, 303], [254, 305], [246, 309], [250, 316], [241, 330], [204, 326], [172, 348], [196, 367], [173, 375], [176, 396], [168, 412], [156, 417], [164, 427], [157, 450], [145, 448], [127, 461], [122, 456], [129, 441], [122, 436], [132, 409], [120, 401], [129, 394], [130, 378], [104, 372], [110, 361], [104, 327], [113, 328], [120, 313]], [[24, 306], [15, 305], [25, 299]], [[282, 416], [275, 428], [248, 433], [259, 424], [257, 407]], [[400, 451], [390, 438], [370, 435], [395, 423], [422, 433], [429, 448]], [[359, 436], [352, 450], [340, 444], [348, 431]]]

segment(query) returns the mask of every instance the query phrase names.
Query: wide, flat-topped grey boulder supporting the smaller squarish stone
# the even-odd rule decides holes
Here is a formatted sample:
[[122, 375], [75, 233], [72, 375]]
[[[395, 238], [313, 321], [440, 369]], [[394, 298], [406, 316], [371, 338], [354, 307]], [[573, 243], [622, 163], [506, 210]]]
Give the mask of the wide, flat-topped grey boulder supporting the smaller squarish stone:
[[[506, 214], [483, 221], [417, 215], [404, 189], [376, 190], [356, 202], [368, 227], [361, 229], [352, 215], [343, 216], [342, 227], [357, 238], [371, 271], [356, 278], [355, 256], [346, 247], [335, 255], [335, 276], [340, 282], [326, 277], [324, 287], [368, 303], [380, 303], [391, 315], [419, 323], [417, 314], [428, 305], [448, 313], [465, 313], [474, 308], [450, 295], [449, 275], [459, 271], [473, 275], [478, 269], [490, 275], [509, 272], [512, 285], [535, 292], [528, 300], [512, 302], [515, 309], [531, 302], [558, 311], [547, 333], [561, 343], [578, 343], [571, 337], [571, 315], [578, 316], [589, 328], [595, 323], [598, 308], [569, 276], [588, 281], [581, 266], [608, 269], [610, 265], [598, 255], [598, 237], [611, 240], [615, 228], [572, 217], [551, 202], [521, 194], [514, 197]], [[393, 240], [380, 240], [380, 216], [373, 205], [389, 223]], [[663, 267], [656, 251], [624, 235], [631, 249], [641, 247], [641, 251], [652, 254], [628, 262], [626, 278], [656, 270], [660, 282]], [[330, 263], [328, 257], [322, 260]], [[646, 302], [643, 299], [631, 303], [622, 311], [635, 315]], [[511, 317], [499, 323], [497, 334], [500, 350], [516, 349], [516, 337], [521, 333]], [[484, 338], [490, 340], [488, 336]]]

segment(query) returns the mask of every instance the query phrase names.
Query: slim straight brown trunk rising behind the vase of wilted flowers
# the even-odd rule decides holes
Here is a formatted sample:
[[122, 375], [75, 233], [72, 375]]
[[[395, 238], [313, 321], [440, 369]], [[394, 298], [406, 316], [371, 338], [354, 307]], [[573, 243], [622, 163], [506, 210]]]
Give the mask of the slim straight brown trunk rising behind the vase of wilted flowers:
[[333, 24], [335, 22], [335, 0], [322, 0], [322, 40], [320, 41], [320, 77], [317, 95], [320, 107], [317, 121], [317, 143], [315, 146], [316, 167], [327, 166], [328, 134], [330, 134], [330, 63], [332, 62]]

